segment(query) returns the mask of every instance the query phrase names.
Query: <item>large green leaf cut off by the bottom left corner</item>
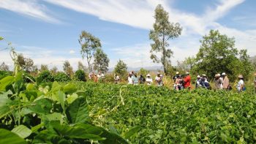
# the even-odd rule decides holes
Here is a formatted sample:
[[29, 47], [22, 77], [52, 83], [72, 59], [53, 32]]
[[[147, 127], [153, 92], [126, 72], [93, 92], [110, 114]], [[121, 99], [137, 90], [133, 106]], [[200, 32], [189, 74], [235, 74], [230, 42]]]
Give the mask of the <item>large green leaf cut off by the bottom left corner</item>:
[[0, 143], [26, 144], [26, 141], [19, 137], [18, 134], [6, 129], [0, 129]]

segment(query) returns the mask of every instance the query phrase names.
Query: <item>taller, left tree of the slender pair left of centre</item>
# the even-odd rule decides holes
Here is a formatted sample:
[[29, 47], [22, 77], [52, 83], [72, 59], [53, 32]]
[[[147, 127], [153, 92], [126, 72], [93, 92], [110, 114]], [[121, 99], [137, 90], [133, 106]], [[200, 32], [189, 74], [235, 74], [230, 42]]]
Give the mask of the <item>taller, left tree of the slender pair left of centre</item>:
[[82, 31], [78, 42], [81, 45], [80, 53], [82, 58], [86, 57], [89, 71], [91, 71], [91, 59], [94, 56], [94, 52], [97, 48], [101, 48], [101, 43], [97, 37], [94, 37], [89, 32]]

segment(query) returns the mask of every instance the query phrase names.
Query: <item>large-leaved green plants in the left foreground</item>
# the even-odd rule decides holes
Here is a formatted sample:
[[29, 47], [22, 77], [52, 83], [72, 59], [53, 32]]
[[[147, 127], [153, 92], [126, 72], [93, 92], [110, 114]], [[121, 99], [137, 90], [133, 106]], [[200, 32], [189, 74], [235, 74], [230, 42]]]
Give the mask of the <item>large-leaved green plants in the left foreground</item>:
[[21, 73], [0, 80], [0, 143], [127, 143], [91, 124], [86, 95], [74, 84], [23, 81]]

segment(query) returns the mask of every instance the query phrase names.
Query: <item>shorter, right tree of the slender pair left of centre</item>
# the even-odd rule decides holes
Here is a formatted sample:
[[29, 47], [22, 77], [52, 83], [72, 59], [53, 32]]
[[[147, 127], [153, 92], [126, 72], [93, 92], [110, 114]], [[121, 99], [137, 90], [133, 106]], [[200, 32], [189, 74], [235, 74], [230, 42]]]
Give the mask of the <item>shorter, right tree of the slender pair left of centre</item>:
[[94, 70], [108, 72], [108, 63], [108, 55], [101, 48], [97, 48], [96, 53], [94, 53]]

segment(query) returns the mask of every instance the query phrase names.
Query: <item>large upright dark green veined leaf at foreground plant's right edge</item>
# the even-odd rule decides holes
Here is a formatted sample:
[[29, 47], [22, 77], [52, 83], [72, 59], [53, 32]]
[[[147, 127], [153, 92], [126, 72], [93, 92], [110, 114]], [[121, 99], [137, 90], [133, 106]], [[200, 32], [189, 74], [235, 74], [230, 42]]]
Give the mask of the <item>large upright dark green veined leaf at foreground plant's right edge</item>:
[[67, 108], [67, 118], [72, 124], [89, 121], [89, 110], [85, 98], [78, 97], [69, 105]]

